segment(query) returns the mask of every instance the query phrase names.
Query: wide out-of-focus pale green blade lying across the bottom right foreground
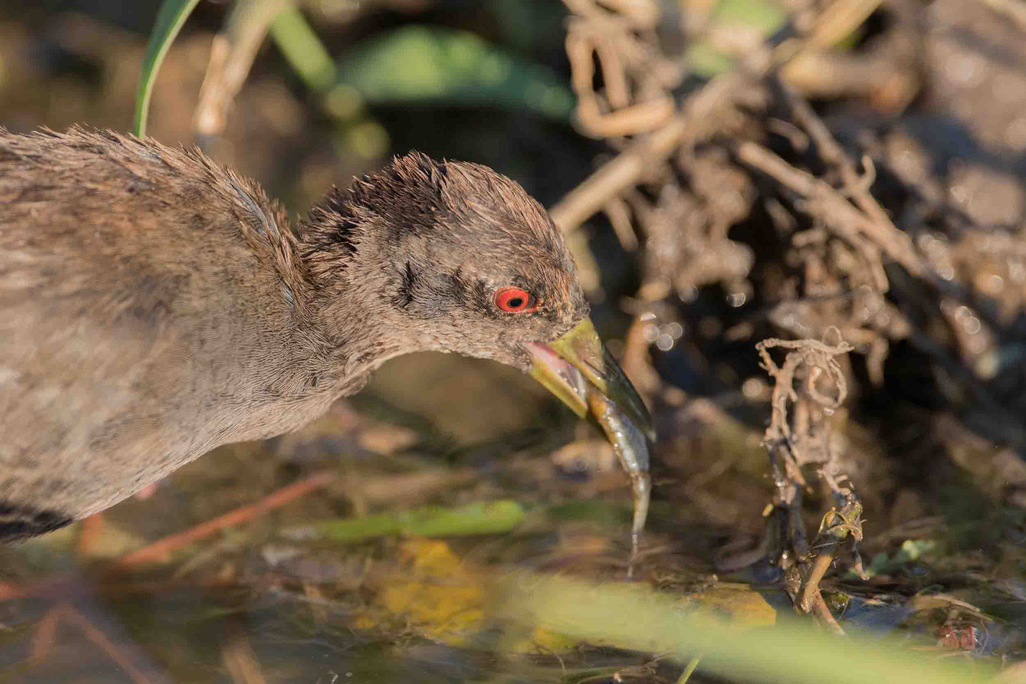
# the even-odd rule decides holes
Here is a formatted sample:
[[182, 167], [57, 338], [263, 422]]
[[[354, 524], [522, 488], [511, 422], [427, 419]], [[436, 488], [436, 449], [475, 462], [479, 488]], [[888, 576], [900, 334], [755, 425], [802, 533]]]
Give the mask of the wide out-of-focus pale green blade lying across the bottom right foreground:
[[565, 576], [510, 575], [497, 615], [596, 646], [701, 657], [703, 672], [762, 684], [986, 684], [993, 662], [915, 651], [904, 639], [850, 630], [846, 638], [779, 616], [744, 629], [715, 610], [692, 608], [641, 584], [595, 584]]

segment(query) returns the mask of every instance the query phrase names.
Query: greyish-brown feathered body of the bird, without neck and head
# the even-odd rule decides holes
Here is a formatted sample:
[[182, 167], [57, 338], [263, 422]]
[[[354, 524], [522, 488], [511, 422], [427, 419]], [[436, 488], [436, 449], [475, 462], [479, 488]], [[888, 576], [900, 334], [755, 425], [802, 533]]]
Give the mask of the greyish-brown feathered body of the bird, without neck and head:
[[295, 317], [273, 264], [287, 230], [196, 153], [0, 129], [0, 538], [249, 437]]

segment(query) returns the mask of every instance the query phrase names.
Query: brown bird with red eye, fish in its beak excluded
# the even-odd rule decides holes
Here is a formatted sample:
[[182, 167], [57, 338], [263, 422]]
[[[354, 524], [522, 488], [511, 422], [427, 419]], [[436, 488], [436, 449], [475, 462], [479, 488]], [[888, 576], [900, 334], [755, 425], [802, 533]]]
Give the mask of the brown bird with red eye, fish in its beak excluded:
[[650, 432], [559, 232], [484, 166], [397, 157], [291, 226], [199, 151], [0, 128], [0, 539], [294, 430], [425, 350], [581, 414], [595, 388]]

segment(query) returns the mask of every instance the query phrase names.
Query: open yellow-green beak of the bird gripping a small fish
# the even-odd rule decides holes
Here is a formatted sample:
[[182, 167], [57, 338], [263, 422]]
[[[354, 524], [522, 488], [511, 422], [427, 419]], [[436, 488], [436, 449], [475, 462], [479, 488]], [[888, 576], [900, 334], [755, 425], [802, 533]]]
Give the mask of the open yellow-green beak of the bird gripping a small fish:
[[586, 318], [555, 341], [531, 343], [531, 377], [541, 383], [578, 415], [588, 415], [588, 393], [597, 390], [609, 399], [645, 436], [655, 441], [648, 409], [617, 360]]

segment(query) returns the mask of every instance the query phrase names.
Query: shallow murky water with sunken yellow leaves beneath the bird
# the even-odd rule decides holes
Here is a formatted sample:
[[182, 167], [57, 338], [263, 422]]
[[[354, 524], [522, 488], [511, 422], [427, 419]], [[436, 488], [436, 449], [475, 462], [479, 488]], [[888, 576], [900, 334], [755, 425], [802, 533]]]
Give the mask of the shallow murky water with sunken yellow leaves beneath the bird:
[[[475, 372], [475, 364], [464, 370]], [[496, 612], [495, 582], [518, 571], [650, 586], [757, 626], [790, 612], [765, 561], [735, 575], [770, 582], [755, 592], [713, 570], [717, 550], [745, 536], [741, 528], [751, 530], [753, 545], [761, 532], [758, 511], [771, 487], [756, 431], [693, 413], [685, 430], [661, 442], [632, 580], [631, 491], [597, 431], [551, 405], [544, 430], [535, 418], [505, 437], [455, 447], [428, 416], [396, 410], [386, 396], [341, 404], [287, 439], [208, 454], [148, 499], [109, 511], [100, 533], [77, 524], [0, 549], [0, 682], [656, 683], [679, 676], [682, 663], [659, 654], [509, 622]], [[555, 449], [578, 434], [588, 441], [574, 458], [557, 457]], [[312, 471], [338, 477], [166, 557], [111, 569], [130, 551], [250, 506]], [[295, 534], [313, 521], [352, 524], [483, 501], [509, 501], [522, 516], [490, 534], [400, 532], [355, 544]], [[828, 578], [828, 592], [847, 597], [836, 604], [842, 626], [900, 631], [932, 645], [947, 623], [959, 630], [948, 641], [981, 639], [973, 645], [978, 656], [1018, 652], [1024, 614], [1012, 597], [1023, 592], [1021, 580], [997, 572], [974, 586], [965, 572], [979, 573], [979, 565], [971, 557], [938, 565], [929, 547], [909, 549], [926, 555], [913, 560], [911, 552], [884, 549], [882, 559], [867, 556], [875, 568], [869, 584]], [[948, 603], [910, 600], [935, 581], [952, 594]], [[984, 600], [979, 612], [962, 605]], [[623, 619], [643, 630], [642, 616]], [[701, 668], [696, 677], [703, 681]]]

